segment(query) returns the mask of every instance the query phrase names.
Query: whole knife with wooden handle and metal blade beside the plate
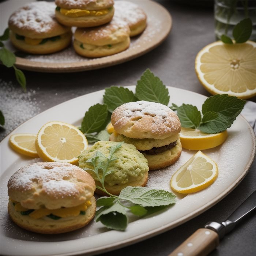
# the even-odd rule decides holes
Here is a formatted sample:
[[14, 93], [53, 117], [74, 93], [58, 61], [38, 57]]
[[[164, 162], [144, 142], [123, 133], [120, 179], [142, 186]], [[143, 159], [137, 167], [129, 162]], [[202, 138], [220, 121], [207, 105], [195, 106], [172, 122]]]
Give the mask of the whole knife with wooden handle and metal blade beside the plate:
[[198, 229], [169, 256], [204, 256], [218, 245], [219, 241], [245, 218], [256, 213], [256, 191], [252, 193], [222, 223], [207, 222], [204, 228]]

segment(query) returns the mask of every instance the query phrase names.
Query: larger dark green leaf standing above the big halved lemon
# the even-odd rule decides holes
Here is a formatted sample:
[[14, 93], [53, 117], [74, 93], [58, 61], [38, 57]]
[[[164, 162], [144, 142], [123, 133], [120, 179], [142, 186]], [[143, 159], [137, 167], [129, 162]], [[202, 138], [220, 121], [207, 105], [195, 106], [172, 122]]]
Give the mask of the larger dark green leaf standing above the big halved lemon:
[[252, 20], [246, 18], [241, 20], [233, 29], [233, 37], [236, 43], [246, 42], [252, 34]]

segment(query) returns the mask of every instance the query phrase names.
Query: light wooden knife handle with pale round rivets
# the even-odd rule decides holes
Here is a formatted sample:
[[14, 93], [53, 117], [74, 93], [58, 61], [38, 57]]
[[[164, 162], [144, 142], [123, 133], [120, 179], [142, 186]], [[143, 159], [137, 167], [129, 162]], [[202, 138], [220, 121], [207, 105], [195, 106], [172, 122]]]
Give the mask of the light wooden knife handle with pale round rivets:
[[204, 256], [219, 245], [218, 234], [210, 229], [198, 229], [169, 256]]

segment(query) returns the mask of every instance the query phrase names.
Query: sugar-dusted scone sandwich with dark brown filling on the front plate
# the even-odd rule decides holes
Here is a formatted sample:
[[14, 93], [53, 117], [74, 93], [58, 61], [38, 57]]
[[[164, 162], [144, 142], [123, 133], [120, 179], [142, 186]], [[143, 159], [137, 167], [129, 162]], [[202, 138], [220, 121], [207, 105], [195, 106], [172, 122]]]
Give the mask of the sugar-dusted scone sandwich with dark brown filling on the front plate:
[[134, 144], [148, 160], [150, 170], [169, 166], [181, 154], [178, 116], [167, 106], [148, 101], [125, 103], [111, 116], [111, 141]]

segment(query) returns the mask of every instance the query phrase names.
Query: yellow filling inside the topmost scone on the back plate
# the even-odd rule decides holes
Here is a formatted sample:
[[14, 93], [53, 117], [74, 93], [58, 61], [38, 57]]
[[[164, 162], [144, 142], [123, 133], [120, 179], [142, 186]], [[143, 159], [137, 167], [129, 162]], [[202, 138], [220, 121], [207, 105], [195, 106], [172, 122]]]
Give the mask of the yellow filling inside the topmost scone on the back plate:
[[89, 11], [89, 10], [80, 10], [80, 9], [64, 9], [64, 8], [58, 8], [56, 10], [59, 10], [62, 15], [76, 18], [81, 16], [102, 16], [108, 14], [108, 12], [111, 10], [111, 8], [108, 9], [102, 9], [97, 11]]

